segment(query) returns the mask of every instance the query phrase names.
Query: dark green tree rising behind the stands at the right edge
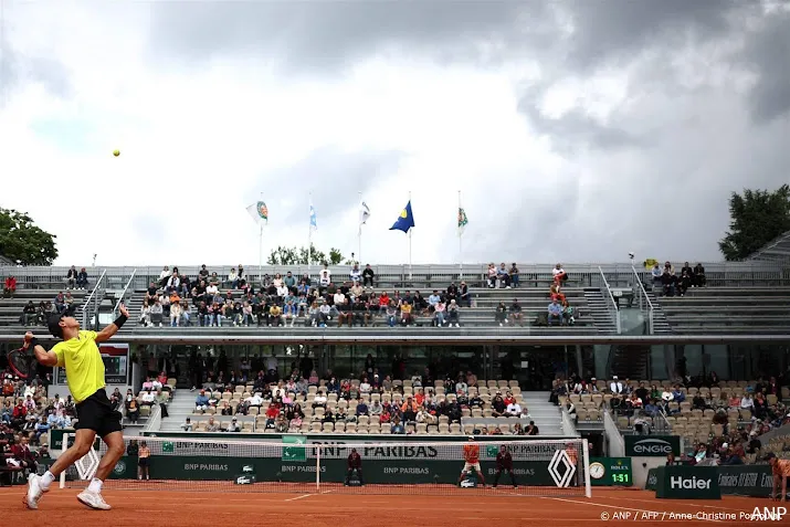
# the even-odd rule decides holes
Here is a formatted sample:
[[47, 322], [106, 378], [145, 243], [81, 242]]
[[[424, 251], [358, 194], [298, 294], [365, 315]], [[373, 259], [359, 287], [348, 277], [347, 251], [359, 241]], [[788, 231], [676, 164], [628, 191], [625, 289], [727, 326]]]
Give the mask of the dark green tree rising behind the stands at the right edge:
[[790, 231], [790, 186], [775, 191], [744, 189], [729, 198], [729, 231], [718, 242], [725, 260], [744, 260]]

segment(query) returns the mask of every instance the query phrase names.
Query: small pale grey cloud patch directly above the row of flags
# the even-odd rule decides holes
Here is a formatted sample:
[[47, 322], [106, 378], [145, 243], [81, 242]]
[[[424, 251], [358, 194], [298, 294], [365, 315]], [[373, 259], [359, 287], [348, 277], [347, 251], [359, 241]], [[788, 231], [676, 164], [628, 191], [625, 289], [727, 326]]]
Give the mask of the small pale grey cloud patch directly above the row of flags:
[[262, 177], [264, 198], [267, 202], [293, 200], [283, 207], [287, 211], [284, 221], [306, 228], [307, 194], [312, 191], [318, 229], [322, 229], [339, 214], [358, 208], [359, 192], [375, 191], [377, 180], [393, 176], [403, 158], [403, 152], [393, 150], [346, 152], [331, 146], [319, 148], [292, 167], [265, 173]]

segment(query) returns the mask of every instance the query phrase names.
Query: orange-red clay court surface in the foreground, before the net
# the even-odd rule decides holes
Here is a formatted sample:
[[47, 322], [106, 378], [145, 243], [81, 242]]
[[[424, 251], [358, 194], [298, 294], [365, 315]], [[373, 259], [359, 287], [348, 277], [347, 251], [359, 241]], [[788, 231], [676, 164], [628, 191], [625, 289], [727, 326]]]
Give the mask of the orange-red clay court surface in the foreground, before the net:
[[[348, 495], [333, 491], [323, 494], [239, 494], [211, 487], [198, 492], [175, 492], [160, 487], [156, 491], [105, 489], [105, 499], [113, 506], [109, 512], [91, 510], [81, 505], [75, 497], [78, 489], [53, 488], [42, 498], [39, 510], [28, 510], [22, 503], [25, 489], [23, 486], [0, 488], [0, 525], [260, 527], [276, 521], [275, 525], [310, 527], [459, 527], [486, 523], [497, 527], [535, 523], [550, 527], [589, 527], [630, 521], [645, 527], [733, 526], [755, 525], [741, 517], [741, 514], [751, 514], [755, 507], [787, 506], [768, 499], [730, 496], [720, 502], [656, 499], [651, 492], [625, 489], [593, 489], [592, 498], [584, 498], [508, 496], [504, 488], [497, 496], [476, 489], [468, 489], [466, 496], [445, 496], [430, 493]], [[787, 516], [782, 521], [775, 523], [790, 525]]]

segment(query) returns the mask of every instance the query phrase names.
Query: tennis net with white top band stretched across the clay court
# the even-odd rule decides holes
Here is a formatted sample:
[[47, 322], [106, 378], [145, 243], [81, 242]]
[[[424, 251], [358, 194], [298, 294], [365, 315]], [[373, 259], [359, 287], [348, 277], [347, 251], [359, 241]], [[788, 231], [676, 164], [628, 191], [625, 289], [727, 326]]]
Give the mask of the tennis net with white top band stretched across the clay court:
[[[140, 447], [145, 443], [150, 452], [143, 463], [147, 465], [148, 478], [140, 468], [139, 456], [126, 455], [105, 482], [107, 488], [590, 495], [587, 442], [581, 439], [485, 436], [474, 442], [464, 439], [396, 442], [371, 438], [331, 442], [312, 441], [309, 435], [285, 435], [267, 442], [147, 436], [128, 438], [127, 444], [131, 441]], [[349, 461], [352, 451], [359, 454], [358, 463]], [[503, 451], [509, 453], [512, 464], [506, 460], [497, 462], [497, 454]], [[84, 486], [95, 474], [103, 453], [101, 445], [80, 460], [62, 478], [62, 485]], [[512, 474], [505, 470], [508, 465]]]

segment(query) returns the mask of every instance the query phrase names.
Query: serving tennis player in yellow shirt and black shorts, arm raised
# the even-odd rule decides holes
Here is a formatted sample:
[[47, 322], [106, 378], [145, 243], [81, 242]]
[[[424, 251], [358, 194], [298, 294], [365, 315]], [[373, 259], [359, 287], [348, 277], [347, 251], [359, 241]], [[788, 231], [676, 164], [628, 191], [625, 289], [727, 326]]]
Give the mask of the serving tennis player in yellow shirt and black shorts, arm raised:
[[96, 344], [108, 340], [124, 326], [129, 312], [123, 304], [119, 310], [118, 318], [99, 333], [80, 330], [80, 323], [65, 314], [52, 315], [49, 319], [50, 333], [63, 341], [57, 342], [50, 351], [39, 345], [32, 333], [24, 335], [24, 347], [33, 347], [39, 362], [65, 368], [69, 390], [76, 402], [78, 419], [74, 444], [57, 457], [55, 464], [43, 476], [31, 474], [28, 478], [28, 495], [24, 498], [28, 508], [39, 508], [39, 500], [43, 493], [50, 489], [50, 485], [63, 471], [88, 453], [96, 435], [107, 444], [107, 452], [102, 456], [102, 462], [88, 487], [77, 495], [77, 499], [93, 509], [109, 510], [110, 508], [102, 497], [102, 485], [124, 455], [124, 433], [120, 426], [120, 412], [113, 410], [107, 392], [104, 390], [104, 361]]

